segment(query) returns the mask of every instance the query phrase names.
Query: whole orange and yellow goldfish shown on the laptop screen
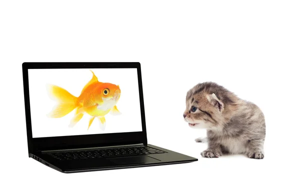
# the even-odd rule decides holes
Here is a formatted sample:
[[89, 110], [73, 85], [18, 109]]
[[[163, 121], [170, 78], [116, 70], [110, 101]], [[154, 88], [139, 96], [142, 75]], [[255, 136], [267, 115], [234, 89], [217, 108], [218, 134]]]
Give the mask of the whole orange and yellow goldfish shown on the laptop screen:
[[94, 118], [104, 124], [108, 112], [113, 115], [120, 114], [116, 103], [120, 98], [121, 90], [118, 85], [99, 82], [92, 70], [92, 78], [82, 88], [78, 97], [72, 95], [67, 90], [57, 85], [48, 84], [48, 95], [57, 101], [56, 106], [48, 114], [51, 118], [60, 118], [75, 109], [75, 114], [70, 120], [69, 127], [73, 127], [83, 116], [84, 112], [91, 118], [88, 122], [89, 129]]

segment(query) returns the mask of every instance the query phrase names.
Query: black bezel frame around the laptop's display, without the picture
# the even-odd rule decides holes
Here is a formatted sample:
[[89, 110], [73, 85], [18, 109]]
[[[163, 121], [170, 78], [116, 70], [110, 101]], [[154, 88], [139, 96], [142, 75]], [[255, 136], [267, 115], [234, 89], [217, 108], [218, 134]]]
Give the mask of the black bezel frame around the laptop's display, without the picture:
[[[33, 138], [29, 101], [30, 96], [28, 87], [28, 69], [57, 68], [136, 68], [138, 78], [142, 131]], [[138, 143], [142, 143], [144, 145], [147, 144], [141, 82], [141, 69], [139, 62], [24, 62], [22, 64], [22, 70], [28, 152], [52, 149], [72, 149], [85, 147], [127, 145]]]

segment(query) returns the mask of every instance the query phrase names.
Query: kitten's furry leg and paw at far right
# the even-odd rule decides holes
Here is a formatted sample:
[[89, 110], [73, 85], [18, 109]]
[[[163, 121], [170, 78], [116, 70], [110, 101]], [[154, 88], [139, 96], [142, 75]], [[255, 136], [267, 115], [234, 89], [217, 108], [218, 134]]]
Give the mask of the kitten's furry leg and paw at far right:
[[263, 159], [263, 142], [264, 139], [248, 140], [249, 151], [246, 155], [249, 158]]

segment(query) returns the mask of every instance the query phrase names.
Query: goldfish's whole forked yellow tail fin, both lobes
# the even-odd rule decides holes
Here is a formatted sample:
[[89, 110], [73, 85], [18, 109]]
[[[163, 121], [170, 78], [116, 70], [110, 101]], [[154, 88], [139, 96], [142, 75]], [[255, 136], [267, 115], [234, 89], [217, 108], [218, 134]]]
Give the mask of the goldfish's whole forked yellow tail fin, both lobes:
[[63, 117], [77, 106], [77, 97], [57, 85], [47, 85], [47, 92], [50, 98], [58, 101], [58, 104], [48, 114], [49, 117]]

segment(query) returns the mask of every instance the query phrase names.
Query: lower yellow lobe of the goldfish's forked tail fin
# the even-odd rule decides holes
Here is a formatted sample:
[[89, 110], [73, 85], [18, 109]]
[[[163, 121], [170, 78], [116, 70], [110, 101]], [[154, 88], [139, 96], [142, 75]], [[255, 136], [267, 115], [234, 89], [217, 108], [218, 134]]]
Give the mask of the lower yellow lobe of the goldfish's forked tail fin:
[[53, 107], [52, 111], [48, 113], [47, 116], [51, 118], [63, 117], [75, 107], [76, 105], [74, 103], [59, 103]]

